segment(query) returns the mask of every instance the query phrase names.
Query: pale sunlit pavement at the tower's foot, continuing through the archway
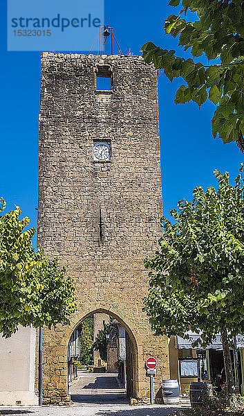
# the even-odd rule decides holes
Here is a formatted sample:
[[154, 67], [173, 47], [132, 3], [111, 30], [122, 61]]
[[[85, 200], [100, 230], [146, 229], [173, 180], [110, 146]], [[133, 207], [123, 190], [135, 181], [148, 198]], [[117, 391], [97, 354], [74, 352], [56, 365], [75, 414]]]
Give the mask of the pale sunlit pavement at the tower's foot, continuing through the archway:
[[125, 390], [118, 385], [117, 374], [79, 374], [70, 388], [71, 406], [0, 406], [1, 416], [169, 416], [188, 407], [130, 406]]

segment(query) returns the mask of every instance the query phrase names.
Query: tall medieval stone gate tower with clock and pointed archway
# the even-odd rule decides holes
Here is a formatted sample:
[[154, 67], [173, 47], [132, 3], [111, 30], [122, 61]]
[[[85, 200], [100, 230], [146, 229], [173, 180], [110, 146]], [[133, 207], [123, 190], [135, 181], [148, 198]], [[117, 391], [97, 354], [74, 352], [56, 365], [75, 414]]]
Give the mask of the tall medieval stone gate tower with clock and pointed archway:
[[169, 378], [167, 340], [142, 312], [143, 259], [161, 233], [156, 75], [135, 56], [42, 55], [38, 246], [68, 264], [78, 306], [70, 327], [44, 329], [46, 404], [68, 401], [68, 340], [93, 313], [126, 329], [131, 397], [149, 396], [148, 356], [158, 358], [156, 392]]

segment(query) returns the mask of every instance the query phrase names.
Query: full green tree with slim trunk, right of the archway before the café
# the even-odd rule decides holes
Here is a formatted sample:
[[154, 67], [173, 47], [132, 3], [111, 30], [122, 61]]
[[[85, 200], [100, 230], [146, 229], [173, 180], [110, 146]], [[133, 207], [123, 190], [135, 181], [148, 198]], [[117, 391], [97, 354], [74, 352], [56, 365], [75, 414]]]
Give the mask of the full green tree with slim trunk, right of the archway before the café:
[[202, 345], [221, 334], [227, 390], [234, 392], [229, 343], [244, 331], [243, 166], [236, 185], [229, 173], [214, 171], [218, 190], [193, 191], [171, 210], [175, 223], [162, 217], [160, 251], [144, 265], [149, 272], [145, 311], [157, 334], [203, 331]]

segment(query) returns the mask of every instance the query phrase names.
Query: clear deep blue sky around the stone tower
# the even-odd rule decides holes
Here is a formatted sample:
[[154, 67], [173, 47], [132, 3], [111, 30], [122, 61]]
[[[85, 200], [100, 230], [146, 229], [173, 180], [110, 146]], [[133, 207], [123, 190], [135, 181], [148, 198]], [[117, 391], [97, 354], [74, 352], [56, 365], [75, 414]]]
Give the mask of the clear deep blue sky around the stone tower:
[[[105, 17], [120, 48], [123, 52], [131, 49], [133, 55], [140, 54], [140, 46], [149, 40], [182, 55], [178, 41], [163, 31], [165, 18], [173, 12], [175, 8], [162, 0], [105, 0]], [[7, 51], [6, 0], [1, 1], [0, 47], [0, 196], [8, 209], [19, 205], [36, 227], [40, 53]], [[216, 185], [214, 168], [229, 171], [234, 180], [244, 159], [236, 144], [223, 145], [213, 139], [212, 103], [200, 110], [194, 103], [173, 103], [182, 83], [158, 77], [162, 198], [168, 217], [178, 200], [191, 200], [194, 186]]]

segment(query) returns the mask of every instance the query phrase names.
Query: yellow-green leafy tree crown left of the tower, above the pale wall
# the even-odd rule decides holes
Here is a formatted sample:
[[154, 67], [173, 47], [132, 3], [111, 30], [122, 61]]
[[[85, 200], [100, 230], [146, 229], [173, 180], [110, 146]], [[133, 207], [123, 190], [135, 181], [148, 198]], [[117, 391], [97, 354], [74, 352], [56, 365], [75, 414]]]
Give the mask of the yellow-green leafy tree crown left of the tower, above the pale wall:
[[[1, 198], [0, 212], [6, 207]], [[0, 216], [0, 332], [9, 337], [24, 327], [68, 324], [75, 309], [73, 280], [65, 278], [66, 267], [57, 258], [49, 260], [35, 252], [35, 229], [24, 231], [29, 218], [19, 219], [21, 210]]]

